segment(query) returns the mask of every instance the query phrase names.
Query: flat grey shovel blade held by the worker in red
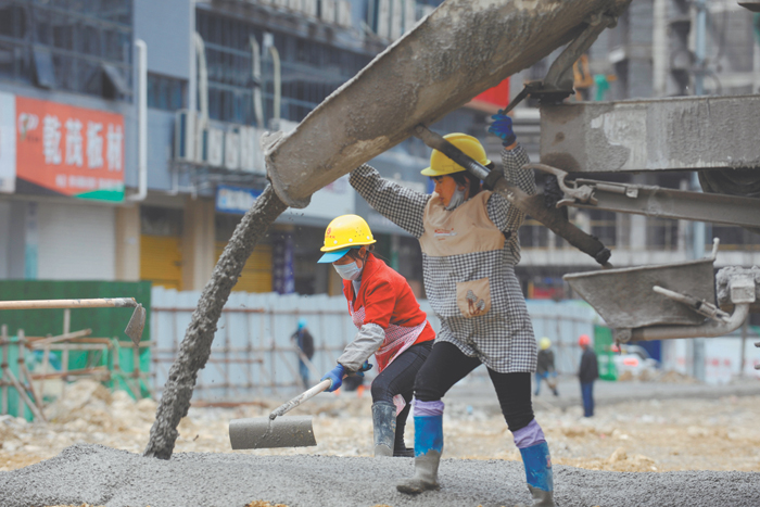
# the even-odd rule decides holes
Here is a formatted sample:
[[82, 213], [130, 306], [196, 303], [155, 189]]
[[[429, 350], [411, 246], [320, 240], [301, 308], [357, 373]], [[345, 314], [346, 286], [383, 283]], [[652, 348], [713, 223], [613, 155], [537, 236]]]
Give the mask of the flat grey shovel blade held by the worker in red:
[[317, 445], [309, 416], [232, 419], [229, 442], [233, 449], [311, 447]]

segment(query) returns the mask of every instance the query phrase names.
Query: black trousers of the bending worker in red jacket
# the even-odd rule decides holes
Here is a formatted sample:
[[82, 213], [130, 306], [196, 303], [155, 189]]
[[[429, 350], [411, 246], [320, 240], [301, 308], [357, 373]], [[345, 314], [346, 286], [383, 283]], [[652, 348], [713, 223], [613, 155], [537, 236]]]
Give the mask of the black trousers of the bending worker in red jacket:
[[396, 417], [396, 442], [404, 442], [404, 429], [406, 419], [409, 417], [411, 408], [411, 394], [415, 385], [415, 378], [425, 359], [430, 355], [433, 341], [411, 345], [404, 351], [388, 368], [382, 370], [372, 381], [372, 402], [393, 403], [393, 396], [401, 394], [404, 396], [406, 406]]

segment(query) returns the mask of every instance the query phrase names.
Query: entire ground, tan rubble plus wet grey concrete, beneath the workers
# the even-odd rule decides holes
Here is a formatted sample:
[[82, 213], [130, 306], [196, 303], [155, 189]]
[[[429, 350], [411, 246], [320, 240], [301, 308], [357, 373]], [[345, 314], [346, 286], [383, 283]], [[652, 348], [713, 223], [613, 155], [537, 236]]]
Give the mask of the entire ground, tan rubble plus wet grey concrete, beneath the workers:
[[[581, 417], [574, 391], [568, 381], [560, 397], [535, 400], [558, 505], [758, 505], [760, 382], [600, 383], [592, 419]], [[162, 461], [141, 457], [154, 402], [77, 382], [49, 407], [48, 424], [0, 417], [0, 507], [486, 507], [529, 499], [490, 385], [466, 383], [447, 395], [444, 487], [417, 498], [394, 490], [411, 473], [411, 459], [369, 458], [367, 395], [320, 395], [294, 410], [315, 416], [316, 447], [230, 449], [230, 419], [264, 416], [280, 403], [191, 408], [175, 456]], [[413, 435], [410, 424], [408, 443]]]

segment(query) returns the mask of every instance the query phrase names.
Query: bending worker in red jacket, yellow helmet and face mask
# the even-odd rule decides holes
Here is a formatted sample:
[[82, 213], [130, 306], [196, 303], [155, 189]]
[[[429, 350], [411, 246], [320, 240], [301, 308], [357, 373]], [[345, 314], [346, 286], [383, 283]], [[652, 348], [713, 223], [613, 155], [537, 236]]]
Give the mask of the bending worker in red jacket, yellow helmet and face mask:
[[325, 231], [319, 263], [332, 263], [343, 278], [343, 294], [358, 333], [322, 380], [332, 381], [328, 390], [332, 392], [346, 375], [371, 368], [368, 359], [375, 354], [379, 371], [370, 388], [375, 456], [414, 457], [414, 449], [404, 444], [404, 429], [415, 377], [435, 332], [406, 279], [372, 255], [375, 242], [367, 223], [356, 215], [339, 216]]

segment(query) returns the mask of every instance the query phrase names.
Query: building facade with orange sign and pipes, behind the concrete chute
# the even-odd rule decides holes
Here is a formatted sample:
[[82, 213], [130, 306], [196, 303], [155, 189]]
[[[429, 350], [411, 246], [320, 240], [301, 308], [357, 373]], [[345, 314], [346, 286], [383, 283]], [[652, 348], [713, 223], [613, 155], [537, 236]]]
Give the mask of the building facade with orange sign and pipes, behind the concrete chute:
[[[3, 2], [0, 279], [200, 290], [266, 186], [261, 134], [293, 128], [438, 3]], [[441, 127], [480, 135], [484, 117], [466, 107]], [[428, 156], [410, 140], [371, 163], [426, 191]], [[421, 294], [417, 242], [347, 177], [277, 220], [236, 290], [338, 293], [316, 259], [345, 213], [367, 218], [378, 253]]]

